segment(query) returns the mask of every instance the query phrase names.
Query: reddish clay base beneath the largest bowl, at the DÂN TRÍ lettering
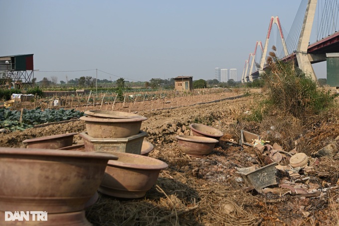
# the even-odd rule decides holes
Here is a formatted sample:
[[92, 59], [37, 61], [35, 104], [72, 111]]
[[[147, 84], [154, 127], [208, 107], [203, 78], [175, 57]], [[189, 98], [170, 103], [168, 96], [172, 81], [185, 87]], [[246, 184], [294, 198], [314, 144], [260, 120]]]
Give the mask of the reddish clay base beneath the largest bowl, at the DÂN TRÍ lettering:
[[[0, 212], [0, 222], [5, 222], [5, 213]], [[92, 226], [85, 216], [85, 211], [72, 213], [50, 214], [47, 213], [47, 221], [33, 221], [32, 215], [29, 221], [6, 221], [6, 226]]]

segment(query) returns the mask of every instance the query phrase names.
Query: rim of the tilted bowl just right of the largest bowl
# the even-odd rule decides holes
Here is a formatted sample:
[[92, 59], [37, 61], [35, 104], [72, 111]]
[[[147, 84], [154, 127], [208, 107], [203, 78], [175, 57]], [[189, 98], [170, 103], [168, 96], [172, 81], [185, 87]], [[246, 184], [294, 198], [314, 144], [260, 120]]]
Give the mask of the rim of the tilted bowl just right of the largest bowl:
[[[111, 153], [111, 152], [110, 152]], [[132, 153], [124, 153], [124, 152], [114, 152], [114, 155], [117, 155], [118, 158], [120, 156], [126, 156], [128, 158], [138, 158], [138, 159], [148, 159], [150, 161], [159, 163], [158, 165], [148, 165], [148, 164], [138, 164], [138, 163], [125, 163], [125, 162], [120, 162], [118, 160], [109, 160], [107, 163], [107, 166], [110, 167], [121, 167], [121, 168], [130, 168], [130, 169], [142, 169], [142, 170], [162, 170], [165, 168], [168, 168], [169, 165], [165, 163], [164, 161], [161, 161], [156, 158], [148, 157], [148, 156], [143, 156], [143, 155], [136, 155]]]

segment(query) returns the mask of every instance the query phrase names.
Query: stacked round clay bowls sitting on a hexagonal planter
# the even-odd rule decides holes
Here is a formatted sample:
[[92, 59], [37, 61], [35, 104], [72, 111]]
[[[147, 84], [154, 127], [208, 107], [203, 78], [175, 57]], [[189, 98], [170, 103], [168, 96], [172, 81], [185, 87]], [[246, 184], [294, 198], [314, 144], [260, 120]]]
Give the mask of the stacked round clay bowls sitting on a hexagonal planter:
[[140, 131], [146, 117], [120, 111], [86, 111], [81, 120], [87, 132], [80, 133], [86, 151], [116, 151], [141, 154], [147, 133]]

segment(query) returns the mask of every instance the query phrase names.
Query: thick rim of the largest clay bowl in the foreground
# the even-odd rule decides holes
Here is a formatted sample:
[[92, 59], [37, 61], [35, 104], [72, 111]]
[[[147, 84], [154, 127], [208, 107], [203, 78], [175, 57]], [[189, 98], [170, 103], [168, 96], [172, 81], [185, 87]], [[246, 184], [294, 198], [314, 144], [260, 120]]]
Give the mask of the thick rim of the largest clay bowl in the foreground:
[[10, 156], [50, 156], [64, 158], [91, 158], [117, 160], [118, 157], [112, 153], [79, 152], [72, 150], [59, 149], [40, 149], [40, 148], [0, 148], [0, 159], [10, 158]]

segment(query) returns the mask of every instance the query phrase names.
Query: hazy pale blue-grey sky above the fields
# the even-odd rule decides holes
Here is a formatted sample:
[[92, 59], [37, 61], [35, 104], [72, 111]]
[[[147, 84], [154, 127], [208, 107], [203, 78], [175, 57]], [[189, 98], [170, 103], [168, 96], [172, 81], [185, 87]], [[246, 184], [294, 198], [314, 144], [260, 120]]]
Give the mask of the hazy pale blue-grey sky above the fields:
[[[0, 56], [34, 54], [34, 76], [240, 80], [271, 16], [288, 32], [300, 0], [0, 0]], [[287, 34], [285, 34], [287, 35]], [[316, 40], [311, 40], [311, 43]], [[326, 78], [326, 66], [318, 66]], [[72, 72], [74, 70], [89, 70]], [[68, 72], [45, 72], [68, 71]]]

